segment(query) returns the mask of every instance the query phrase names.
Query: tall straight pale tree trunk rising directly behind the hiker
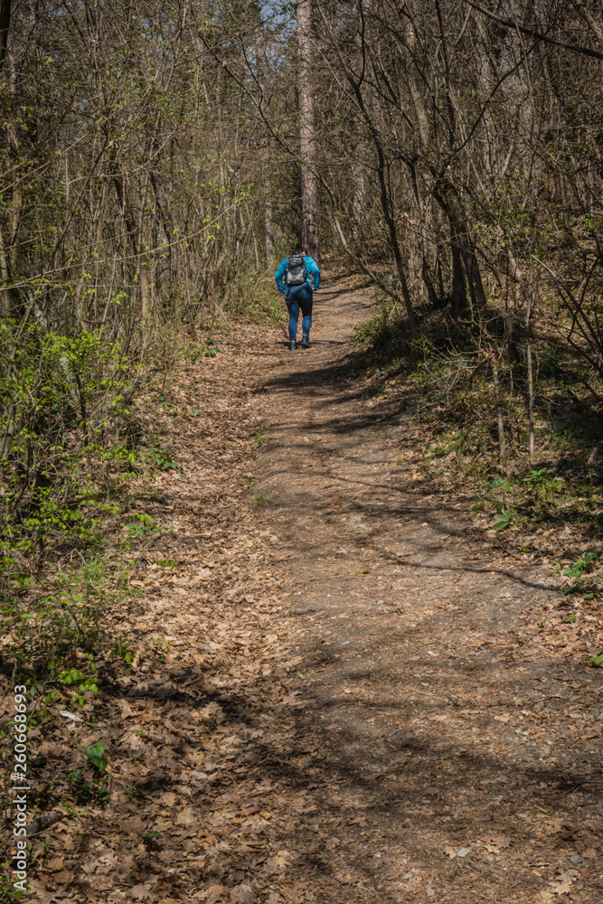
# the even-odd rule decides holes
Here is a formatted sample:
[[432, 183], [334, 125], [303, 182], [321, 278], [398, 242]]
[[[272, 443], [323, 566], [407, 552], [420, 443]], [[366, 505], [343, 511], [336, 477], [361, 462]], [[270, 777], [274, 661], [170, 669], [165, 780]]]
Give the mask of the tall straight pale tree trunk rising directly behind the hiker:
[[299, 155], [302, 182], [302, 245], [318, 258], [318, 193], [316, 190], [316, 140], [312, 95], [312, 0], [297, 0], [297, 52], [299, 80]]

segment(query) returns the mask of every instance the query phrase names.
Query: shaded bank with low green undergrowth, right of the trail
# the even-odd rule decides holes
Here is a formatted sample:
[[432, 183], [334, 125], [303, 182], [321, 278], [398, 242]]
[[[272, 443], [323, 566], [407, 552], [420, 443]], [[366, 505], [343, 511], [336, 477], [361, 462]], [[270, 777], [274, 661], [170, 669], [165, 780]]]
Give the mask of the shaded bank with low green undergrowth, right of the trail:
[[[529, 455], [525, 361], [510, 358], [504, 319], [457, 323], [429, 315], [412, 339], [391, 305], [355, 331], [344, 377], [376, 419], [403, 415], [405, 457], [429, 494], [459, 494], [485, 527], [504, 534], [571, 532], [603, 540], [603, 387], [544, 328], [534, 341], [534, 456]], [[497, 418], [497, 375], [504, 447]], [[402, 460], [400, 459], [400, 464]], [[571, 545], [571, 544], [570, 544]], [[573, 553], [572, 553], [573, 554]]]

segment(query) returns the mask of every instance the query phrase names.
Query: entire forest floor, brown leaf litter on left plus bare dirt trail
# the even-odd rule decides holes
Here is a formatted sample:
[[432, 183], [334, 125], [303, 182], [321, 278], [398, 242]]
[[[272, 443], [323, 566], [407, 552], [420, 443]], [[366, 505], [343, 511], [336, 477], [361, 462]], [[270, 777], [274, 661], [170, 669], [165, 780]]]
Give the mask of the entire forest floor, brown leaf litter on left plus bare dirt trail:
[[[215, 333], [147, 409], [180, 469], [132, 492], [169, 531], [112, 613], [129, 673], [32, 732], [59, 821], [31, 893], [600, 904], [598, 614], [579, 635], [551, 570], [430, 494], [416, 425], [345, 378], [370, 290], [315, 303], [312, 349]], [[57, 803], [48, 770], [99, 739], [110, 800]]]

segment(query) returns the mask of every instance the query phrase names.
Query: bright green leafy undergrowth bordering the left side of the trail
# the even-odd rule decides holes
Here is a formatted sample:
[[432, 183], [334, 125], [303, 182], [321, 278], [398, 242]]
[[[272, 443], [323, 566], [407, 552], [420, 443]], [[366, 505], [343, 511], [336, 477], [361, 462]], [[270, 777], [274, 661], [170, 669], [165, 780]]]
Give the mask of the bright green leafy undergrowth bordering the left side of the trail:
[[[108, 337], [65, 342], [35, 325], [18, 353], [5, 349], [13, 357], [0, 383], [11, 438], [0, 461], [0, 652], [5, 673], [22, 674], [33, 690], [42, 683], [41, 701], [49, 693], [82, 703], [96, 690], [99, 659], [113, 650], [131, 661], [111, 613], [133, 595], [137, 556], [173, 530], [147, 511], [150, 486], [161, 472], [179, 479], [170, 421], [199, 413], [183, 410], [172, 382], [222, 351], [209, 324], [193, 339], [157, 330], [145, 359]], [[143, 417], [149, 407], [154, 428], [163, 424], [155, 432]]]

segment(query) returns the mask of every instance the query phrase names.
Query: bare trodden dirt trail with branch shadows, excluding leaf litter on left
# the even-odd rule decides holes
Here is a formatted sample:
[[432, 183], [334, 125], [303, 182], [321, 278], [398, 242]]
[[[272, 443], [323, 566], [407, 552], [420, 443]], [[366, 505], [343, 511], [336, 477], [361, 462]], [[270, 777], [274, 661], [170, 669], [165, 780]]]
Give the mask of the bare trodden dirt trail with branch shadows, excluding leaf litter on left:
[[347, 885], [316, 899], [600, 902], [598, 674], [543, 649], [551, 579], [438, 505], [405, 464], [406, 417], [342, 377], [369, 313], [367, 291], [318, 293], [314, 347], [264, 387], [297, 736]]

